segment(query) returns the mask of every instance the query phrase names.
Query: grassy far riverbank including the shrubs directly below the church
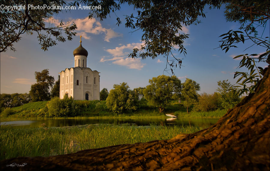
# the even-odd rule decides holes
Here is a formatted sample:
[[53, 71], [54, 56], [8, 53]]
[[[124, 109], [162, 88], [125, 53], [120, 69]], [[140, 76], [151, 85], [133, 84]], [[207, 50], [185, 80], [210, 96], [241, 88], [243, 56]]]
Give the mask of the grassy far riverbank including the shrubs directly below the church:
[[1, 121], [70, 117], [165, 117], [167, 113], [182, 118], [221, 118], [226, 111], [227, 109], [195, 111], [191, 108], [187, 113], [182, 102], [170, 101], [164, 112], [159, 113], [157, 108], [149, 106], [147, 101], [142, 100], [140, 108], [136, 111], [117, 114], [107, 108], [106, 101], [55, 98], [51, 101], [31, 102], [15, 108], [6, 108], [1, 112]]

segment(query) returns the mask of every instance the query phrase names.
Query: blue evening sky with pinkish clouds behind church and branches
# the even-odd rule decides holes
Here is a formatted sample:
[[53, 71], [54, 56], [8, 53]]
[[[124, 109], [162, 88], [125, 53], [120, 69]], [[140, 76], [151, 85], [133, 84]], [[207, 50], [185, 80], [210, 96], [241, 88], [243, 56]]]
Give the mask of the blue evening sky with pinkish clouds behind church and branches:
[[[175, 75], [184, 82], [190, 78], [200, 84], [199, 93], [214, 93], [217, 89], [217, 81], [229, 80], [235, 84], [234, 72], [246, 72], [246, 69], [237, 69], [240, 60], [232, 59], [239, 54], [263, 53], [262, 47], [251, 47], [250, 42], [244, 45], [238, 44], [238, 48], [232, 48], [227, 53], [219, 46], [220, 35], [230, 29], [237, 30], [238, 23], [226, 22], [223, 16], [224, 9], [205, 8], [206, 18], [201, 18], [198, 25], [187, 26], [183, 32], [189, 34], [184, 47], [187, 49], [186, 57], [179, 55], [176, 49], [174, 55], [183, 59], [183, 67], [174, 70]], [[97, 18], [88, 20], [88, 10], [70, 10], [53, 16], [55, 23], [59, 21], [74, 21], [78, 34], [72, 41], [59, 42], [48, 51], [41, 50], [38, 44], [37, 34], [22, 35], [21, 40], [14, 44], [16, 52], [7, 50], [1, 53], [1, 88], [0, 93], [29, 93], [31, 84], [35, 83], [35, 71], [49, 69], [50, 75], [57, 79], [59, 72], [65, 68], [74, 67], [73, 50], [79, 46], [82, 35], [82, 46], [88, 51], [87, 67], [100, 72], [100, 90], [107, 88], [109, 91], [114, 84], [127, 82], [131, 89], [146, 87], [149, 79], [158, 75], [170, 75], [164, 72], [166, 59], [158, 58], [141, 60], [128, 58], [134, 47], [139, 47], [141, 31], [130, 33], [132, 30], [125, 28], [125, 16], [131, 14], [133, 8], [125, 5], [116, 14], [111, 13], [106, 20]], [[134, 13], [134, 12], [133, 12]], [[122, 24], [116, 25], [116, 15]], [[49, 23], [47, 23], [49, 24]], [[51, 23], [53, 26], [54, 24]], [[262, 33], [262, 29], [259, 28]], [[269, 23], [262, 37], [269, 36]], [[267, 63], [258, 66], [266, 67]]]

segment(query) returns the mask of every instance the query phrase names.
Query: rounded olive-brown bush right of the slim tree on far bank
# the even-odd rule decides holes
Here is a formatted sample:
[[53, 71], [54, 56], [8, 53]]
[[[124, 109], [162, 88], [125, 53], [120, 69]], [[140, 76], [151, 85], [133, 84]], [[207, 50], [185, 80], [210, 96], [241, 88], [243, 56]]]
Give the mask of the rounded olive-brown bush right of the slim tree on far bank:
[[197, 102], [193, 110], [195, 111], [215, 111], [220, 108], [221, 101], [217, 93], [207, 94], [202, 93], [199, 96], [199, 102]]

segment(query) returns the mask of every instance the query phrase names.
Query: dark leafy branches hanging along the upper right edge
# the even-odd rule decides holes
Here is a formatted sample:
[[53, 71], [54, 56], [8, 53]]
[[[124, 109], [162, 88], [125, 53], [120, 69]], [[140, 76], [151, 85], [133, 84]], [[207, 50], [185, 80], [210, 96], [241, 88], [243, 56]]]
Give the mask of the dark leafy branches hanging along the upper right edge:
[[[231, 47], [238, 43], [245, 43], [251, 41], [252, 46], [262, 46], [265, 52], [262, 54], [241, 54], [235, 56], [234, 59], [242, 57], [239, 68], [246, 67], [250, 72], [235, 72], [234, 78], [240, 77], [237, 80], [237, 86], [234, 86], [234, 91], [240, 95], [243, 93], [252, 93], [258, 81], [262, 78], [262, 67], [257, 67], [256, 63], [267, 62], [270, 63], [270, 42], [269, 35], [267, 37], [258, 36], [257, 27], [265, 27], [270, 18], [270, 2], [269, 1], [227, 1], [225, 16], [227, 21], [234, 21], [240, 24], [239, 30], [220, 35], [223, 37], [220, 42], [220, 48], [225, 50], [225, 53]], [[268, 24], [269, 25], [269, 24]], [[250, 46], [251, 47], [251, 46]], [[247, 47], [246, 49], [248, 49]], [[246, 50], [245, 49], [245, 50]], [[242, 81], [242, 82], [240, 82]]]

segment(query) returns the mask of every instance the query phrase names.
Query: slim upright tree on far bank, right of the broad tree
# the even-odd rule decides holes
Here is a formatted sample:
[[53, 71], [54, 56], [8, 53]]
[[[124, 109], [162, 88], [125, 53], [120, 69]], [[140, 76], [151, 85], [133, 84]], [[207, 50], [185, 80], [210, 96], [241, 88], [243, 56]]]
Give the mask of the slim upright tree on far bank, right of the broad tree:
[[197, 102], [198, 93], [196, 91], [200, 90], [200, 85], [189, 78], [186, 78], [186, 81], [182, 84], [182, 97], [184, 98], [183, 105], [185, 108], [188, 108]]

